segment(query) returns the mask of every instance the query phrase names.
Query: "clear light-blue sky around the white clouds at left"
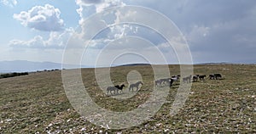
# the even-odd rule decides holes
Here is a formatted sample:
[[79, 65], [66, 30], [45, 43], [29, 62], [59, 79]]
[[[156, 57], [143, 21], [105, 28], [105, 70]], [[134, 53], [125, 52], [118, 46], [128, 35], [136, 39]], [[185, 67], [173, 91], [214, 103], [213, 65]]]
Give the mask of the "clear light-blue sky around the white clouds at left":
[[[6, 3], [8, 2], [8, 3]], [[63, 20], [61, 28], [63, 30], [73, 28], [75, 29], [79, 25], [79, 14], [76, 12], [76, 8], [79, 6], [70, 0], [63, 0], [61, 4], [58, 1], [16, 1], [13, 4], [12, 1], [1, 1], [0, 3], [0, 15], [1, 17], [1, 31], [0, 31], [0, 47], [1, 57], [0, 60], [30, 60], [30, 61], [53, 61], [61, 63], [61, 50], [55, 50], [47, 47], [33, 48], [22, 47], [21, 45], [13, 45], [12, 41], [23, 41], [24, 43], [31, 41], [35, 36], [42, 36], [44, 40], [49, 38], [52, 31], [37, 30], [34, 27], [29, 27], [20, 24], [20, 20], [15, 19], [15, 14], [20, 12], [28, 12], [30, 9], [36, 6], [45, 7], [46, 4], [58, 8], [61, 12], [60, 19]], [[68, 6], [67, 6], [68, 5]], [[57, 31], [56, 34], [61, 34], [65, 31]], [[52, 44], [57, 46], [57, 44]], [[55, 53], [57, 52], [57, 53]]]

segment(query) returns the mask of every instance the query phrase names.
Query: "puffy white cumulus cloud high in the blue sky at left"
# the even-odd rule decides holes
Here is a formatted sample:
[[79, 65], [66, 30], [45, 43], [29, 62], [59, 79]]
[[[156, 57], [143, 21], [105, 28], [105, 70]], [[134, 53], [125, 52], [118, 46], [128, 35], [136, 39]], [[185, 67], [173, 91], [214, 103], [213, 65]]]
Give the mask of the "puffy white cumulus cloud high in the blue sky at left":
[[14, 14], [15, 20], [20, 20], [21, 25], [38, 31], [61, 31], [64, 21], [61, 20], [61, 11], [52, 5], [35, 6], [30, 10]]

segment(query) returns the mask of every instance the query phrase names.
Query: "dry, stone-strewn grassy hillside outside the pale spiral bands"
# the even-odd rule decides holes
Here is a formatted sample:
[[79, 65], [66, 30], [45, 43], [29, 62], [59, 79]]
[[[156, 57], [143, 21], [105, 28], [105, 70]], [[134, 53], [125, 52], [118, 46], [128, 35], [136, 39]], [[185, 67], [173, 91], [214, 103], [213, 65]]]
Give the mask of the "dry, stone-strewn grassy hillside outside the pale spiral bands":
[[[133, 98], [121, 102], [106, 96], [96, 85], [93, 69], [83, 69], [84, 86], [102, 108], [129, 111], [137, 108], [153, 91], [150, 66], [122, 66], [111, 69], [115, 84], [126, 81], [131, 70], [143, 76], [143, 87]], [[171, 75], [179, 66], [170, 65]], [[193, 82], [183, 109], [169, 114], [178, 85], [171, 88], [160, 111], [141, 126], [106, 130], [90, 124], [69, 103], [61, 81], [61, 70], [0, 79], [0, 133], [170, 133], [241, 132], [256, 133], [256, 65], [195, 65], [195, 74], [221, 73], [223, 80]], [[127, 87], [124, 94], [129, 94]], [[120, 95], [120, 96], [122, 96]]]

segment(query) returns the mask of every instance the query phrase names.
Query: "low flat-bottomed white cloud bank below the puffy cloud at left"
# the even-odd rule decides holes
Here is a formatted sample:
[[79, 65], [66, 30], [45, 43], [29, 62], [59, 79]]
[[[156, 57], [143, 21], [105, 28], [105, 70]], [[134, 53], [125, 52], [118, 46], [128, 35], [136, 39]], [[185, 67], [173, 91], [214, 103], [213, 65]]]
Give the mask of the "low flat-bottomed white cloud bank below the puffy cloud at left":
[[66, 29], [63, 32], [52, 31], [49, 34], [49, 38], [46, 40], [44, 40], [43, 36], [35, 36], [28, 41], [12, 40], [9, 42], [9, 46], [30, 48], [64, 48], [73, 32], [74, 31], [72, 28]]

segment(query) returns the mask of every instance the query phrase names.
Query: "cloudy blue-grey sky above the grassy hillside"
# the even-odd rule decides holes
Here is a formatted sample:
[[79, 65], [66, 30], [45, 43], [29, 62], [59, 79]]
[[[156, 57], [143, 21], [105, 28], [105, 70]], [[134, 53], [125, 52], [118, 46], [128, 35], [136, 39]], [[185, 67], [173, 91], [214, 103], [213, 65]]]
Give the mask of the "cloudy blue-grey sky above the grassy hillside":
[[[150, 25], [164, 23], [153, 16], [127, 9], [124, 13], [114, 10], [113, 14], [109, 12], [99, 20], [91, 20], [93, 14], [108, 13], [109, 8], [129, 5], [152, 9], [172, 20], [172, 25], [177, 26], [173, 31], [177, 28], [186, 40], [182, 43], [189, 47], [189, 53], [181, 55], [191, 53], [195, 64], [256, 63], [254, 0], [1, 0], [0, 61], [61, 63], [65, 59], [63, 53], [67, 52], [66, 58], [71, 64], [79, 60], [85, 65], [149, 60], [160, 64], [163, 60], [158, 59], [162, 58], [168, 64], [179, 62], [176, 48], [170, 46], [173, 42], [168, 42], [152, 27], [119, 24], [138, 14], [145, 21], [150, 18]], [[84, 25], [86, 20], [90, 23]], [[168, 29], [165, 26], [161, 25]], [[91, 36], [99, 27], [107, 28], [93, 39], [85, 37]], [[78, 42], [77, 33], [83, 34], [83, 43]]]

